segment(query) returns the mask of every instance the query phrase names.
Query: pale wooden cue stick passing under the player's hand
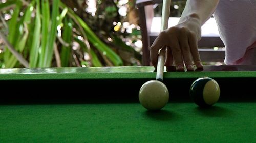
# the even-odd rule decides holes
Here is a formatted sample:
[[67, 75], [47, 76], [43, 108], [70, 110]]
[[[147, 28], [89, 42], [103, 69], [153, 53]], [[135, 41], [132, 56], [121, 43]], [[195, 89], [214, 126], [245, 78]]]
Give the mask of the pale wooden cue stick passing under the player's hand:
[[[170, 2], [171, 0], [163, 1], [161, 31], [164, 31], [168, 28], [168, 20], [170, 15]], [[162, 49], [160, 49], [158, 60], [157, 60], [157, 75], [156, 75], [156, 80], [158, 81], [163, 81], [165, 53], [166, 53], [166, 47], [163, 47]]]

